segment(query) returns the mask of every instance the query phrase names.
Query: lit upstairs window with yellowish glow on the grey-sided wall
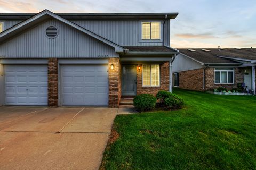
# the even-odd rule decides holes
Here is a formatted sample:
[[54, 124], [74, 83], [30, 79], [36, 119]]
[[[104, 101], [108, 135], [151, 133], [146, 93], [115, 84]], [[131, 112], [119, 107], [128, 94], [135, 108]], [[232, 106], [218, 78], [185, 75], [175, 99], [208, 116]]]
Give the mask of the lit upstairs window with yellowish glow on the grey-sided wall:
[[161, 39], [160, 22], [141, 22], [141, 39]]

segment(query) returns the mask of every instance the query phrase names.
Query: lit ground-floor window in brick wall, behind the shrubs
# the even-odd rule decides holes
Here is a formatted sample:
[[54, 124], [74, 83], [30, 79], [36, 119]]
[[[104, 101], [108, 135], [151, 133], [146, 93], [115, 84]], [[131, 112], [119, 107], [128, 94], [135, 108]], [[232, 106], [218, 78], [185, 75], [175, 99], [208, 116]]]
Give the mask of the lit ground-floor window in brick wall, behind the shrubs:
[[142, 86], [160, 86], [158, 64], [142, 65]]

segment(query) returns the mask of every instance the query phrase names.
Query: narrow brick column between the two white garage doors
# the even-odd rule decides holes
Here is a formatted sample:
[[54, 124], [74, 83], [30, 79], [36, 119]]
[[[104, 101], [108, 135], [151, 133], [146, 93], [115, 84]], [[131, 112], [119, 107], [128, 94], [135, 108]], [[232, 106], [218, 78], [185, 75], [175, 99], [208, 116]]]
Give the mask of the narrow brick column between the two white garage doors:
[[48, 106], [58, 107], [58, 59], [48, 59]]

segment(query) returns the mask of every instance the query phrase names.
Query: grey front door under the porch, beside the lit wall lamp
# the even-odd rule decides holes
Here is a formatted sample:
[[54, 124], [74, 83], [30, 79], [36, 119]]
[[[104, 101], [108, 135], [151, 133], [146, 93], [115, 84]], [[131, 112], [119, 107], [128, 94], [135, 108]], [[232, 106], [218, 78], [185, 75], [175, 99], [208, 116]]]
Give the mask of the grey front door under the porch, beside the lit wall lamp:
[[122, 95], [136, 95], [136, 67], [135, 65], [123, 66], [122, 70]]

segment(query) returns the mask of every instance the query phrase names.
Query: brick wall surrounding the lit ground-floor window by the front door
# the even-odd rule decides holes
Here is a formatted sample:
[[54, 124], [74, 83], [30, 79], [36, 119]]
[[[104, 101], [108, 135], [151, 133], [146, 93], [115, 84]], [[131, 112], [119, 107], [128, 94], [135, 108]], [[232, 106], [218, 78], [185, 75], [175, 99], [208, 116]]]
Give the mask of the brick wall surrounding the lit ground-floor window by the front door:
[[160, 87], [142, 87], [142, 67], [138, 70], [137, 66], [137, 95], [153, 94], [156, 96], [159, 90], [169, 91], [169, 62], [160, 65]]

